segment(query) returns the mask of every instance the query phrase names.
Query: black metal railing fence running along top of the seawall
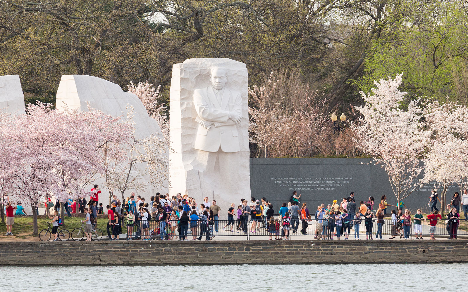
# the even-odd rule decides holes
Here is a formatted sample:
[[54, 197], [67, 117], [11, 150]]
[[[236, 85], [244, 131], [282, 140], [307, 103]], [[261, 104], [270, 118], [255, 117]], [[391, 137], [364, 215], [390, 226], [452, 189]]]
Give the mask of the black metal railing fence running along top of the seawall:
[[[383, 223], [381, 223], [383, 222]], [[212, 225], [211, 225], [211, 224]], [[430, 236], [435, 238], [457, 238], [468, 236], [468, 220], [461, 219], [422, 221], [384, 219], [365, 220], [215, 220], [209, 224], [180, 220], [136, 220], [128, 226], [122, 224], [122, 233], [132, 240], [211, 240], [217, 236], [239, 236], [247, 240], [251, 236], [269, 236], [271, 240], [300, 239], [305, 235], [317, 239], [374, 239], [383, 235], [393, 238]]]

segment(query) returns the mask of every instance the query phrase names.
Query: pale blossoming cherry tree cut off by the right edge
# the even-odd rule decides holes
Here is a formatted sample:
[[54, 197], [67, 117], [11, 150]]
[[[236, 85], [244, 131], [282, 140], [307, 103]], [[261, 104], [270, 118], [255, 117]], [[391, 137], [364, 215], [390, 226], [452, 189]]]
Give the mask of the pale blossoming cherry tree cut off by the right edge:
[[[424, 161], [422, 184], [436, 182], [442, 188], [441, 213], [444, 214], [447, 187], [460, 189], [468, 178], [468, 108], [446, 100], [423, 103], [426, 128], [431, 133]], [[462, 193], [462, 192], [460, 192]]]

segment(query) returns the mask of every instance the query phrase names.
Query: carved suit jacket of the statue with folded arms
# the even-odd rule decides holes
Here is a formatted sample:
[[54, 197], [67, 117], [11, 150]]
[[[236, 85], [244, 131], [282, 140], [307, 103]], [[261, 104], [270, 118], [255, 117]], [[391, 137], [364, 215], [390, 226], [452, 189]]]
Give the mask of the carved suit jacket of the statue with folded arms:
[[225, 87], [221, 104], [219, 104], [213, 87], [210, 85], [203, 89], [196, 89], [193, 101], [199, 117], [197, 121], [205, 120], [214, 123], [210, 129], [198, 125], [194, 148], [208, 152], [217, 152], [219, 147], [224, 152], [239, 151], [236, 125], [227, 118], [230, 112], [241, 115], [241, 93]]

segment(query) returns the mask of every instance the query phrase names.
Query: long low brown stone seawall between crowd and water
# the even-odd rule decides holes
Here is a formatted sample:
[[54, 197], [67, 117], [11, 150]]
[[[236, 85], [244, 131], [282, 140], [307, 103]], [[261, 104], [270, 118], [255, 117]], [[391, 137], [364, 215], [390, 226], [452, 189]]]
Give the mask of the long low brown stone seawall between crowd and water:
[[0, 265], [468, 262], [468, 240], [0, 242]]

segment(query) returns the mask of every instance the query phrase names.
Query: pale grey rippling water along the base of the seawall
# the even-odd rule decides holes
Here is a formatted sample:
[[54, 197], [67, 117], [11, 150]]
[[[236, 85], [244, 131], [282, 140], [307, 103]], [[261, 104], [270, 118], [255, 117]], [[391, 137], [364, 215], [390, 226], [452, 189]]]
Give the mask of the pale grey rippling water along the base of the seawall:
[[441, 291], [450, 285], [451, 291], [466, 285], [467, 268], [467, 264], [0, 267], [0, 291], [297, 292], [322, 287], [362, 292], [379, 278], [380, 288], [368, 290], [386, 291], [389, 285], [404, 291]]

